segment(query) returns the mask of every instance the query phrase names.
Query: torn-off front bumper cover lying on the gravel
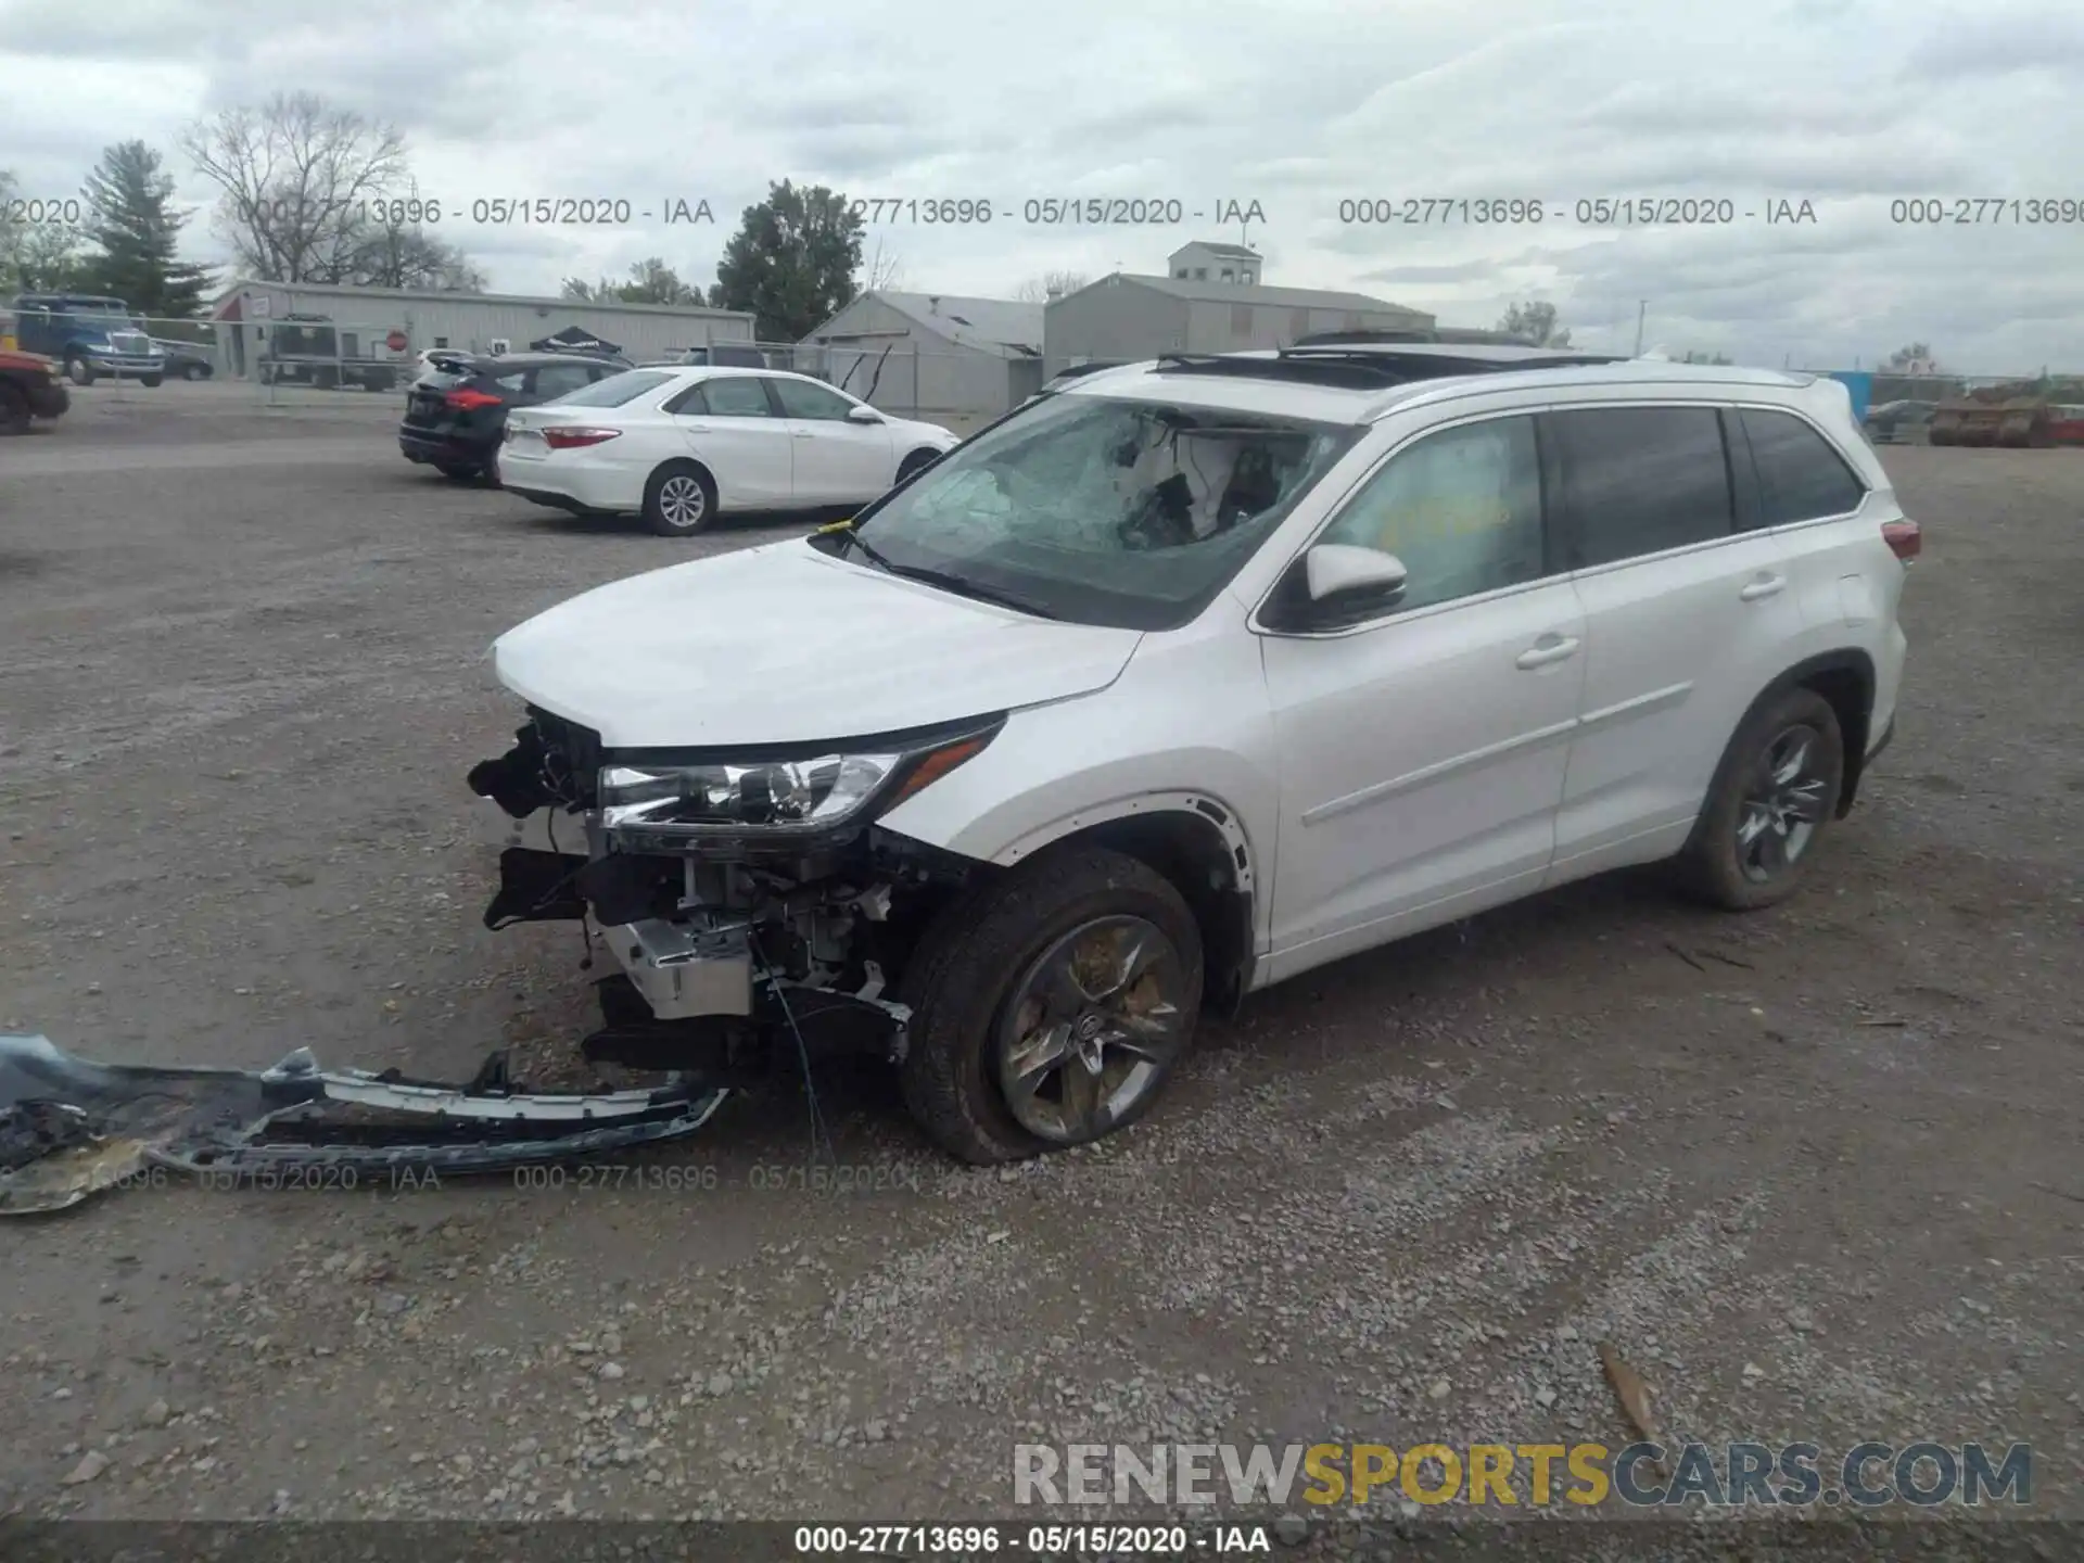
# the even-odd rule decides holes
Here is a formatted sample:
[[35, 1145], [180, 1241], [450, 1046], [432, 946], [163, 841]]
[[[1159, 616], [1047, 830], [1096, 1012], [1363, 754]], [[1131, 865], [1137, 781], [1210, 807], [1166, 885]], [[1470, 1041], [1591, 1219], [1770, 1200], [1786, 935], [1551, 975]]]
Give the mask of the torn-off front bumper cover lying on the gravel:
[[0, 1036], [0, 1215], [63, 1211], [148, 1167], [348, 1186], [556, 1163], [694, 1134], [725, 1094], [694, 1082], [538, 1094], [508, 1082], [504, 1052], [446, 1086], [319, 1069], [306, 1048], [260, 1071], [160, 1069]]

